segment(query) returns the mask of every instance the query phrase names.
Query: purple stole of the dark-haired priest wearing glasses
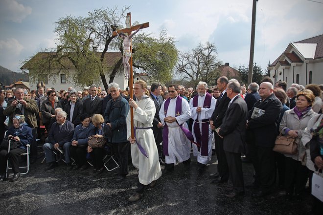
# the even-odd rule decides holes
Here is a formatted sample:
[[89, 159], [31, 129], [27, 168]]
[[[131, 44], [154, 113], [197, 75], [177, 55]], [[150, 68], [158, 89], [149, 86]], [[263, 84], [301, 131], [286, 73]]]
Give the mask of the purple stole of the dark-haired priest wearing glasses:
[[[164, 104], [165, 116], [167, 114], [169, 103], [170, 103], [170, 98], [168, 98]], [[179, 95], [177, 96], [177, 99], [176, 99], [175, 113], [176, 113], [176, 116], [182, 115], [182, 97]], [[179, 126], [183, 130], [187, 139], [189, 139], [191, 142], [195, 143], [193, 134], [188, 129], [185, 129], [183, 126], [181, 126], [181, 125], [179, 125]], [[168, 154], [168, 126], [167, 126], [167, 123], [165, 123], [164, 128], [162, 129], [162, 151], [163, 151], [164, 155], [167, 155], [167, 156], [169, 155]]]

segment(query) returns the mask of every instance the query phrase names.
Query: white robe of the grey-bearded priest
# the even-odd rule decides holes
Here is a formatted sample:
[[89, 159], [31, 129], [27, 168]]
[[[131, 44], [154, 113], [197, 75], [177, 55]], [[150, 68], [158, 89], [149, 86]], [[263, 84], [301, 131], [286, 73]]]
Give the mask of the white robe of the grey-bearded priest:
[[[204, 106], [205, 96], [199, 96], [198, 94], [196, 96], [198, 96], [197, 107], [203, 107]], [[193, 123], [193, 126], [192, 126], [192, 134], [194, 136], [194, 141], [196, 142], [194, 125], [197, 122], [195, 120], [199, 121], [200, 132], [201, 132], [201, 136], [202, 136], [202, 120], [205, 120], [205, 119], [209, 120], [211, 118], [212, 113], [213, 113], [214, 108], [215, 108], [216, 100], [212, 96], [210, 108], [202, 108], [201, 112], [197, 113], [196, 112], [197, 107], [193, 107], [193, 99], [194, 99], [194, 97], [189, 100], [189, 108], [190, 108], [190, 111], [191, 111], [191, 118], [194, 120], [194, 123]], [[193, 155], [195, 157], [197, 156], [197, 162], [199, 162], [201, 164], [208, 164], [208, 161], [211, 160], [211, 156], [212, 156], [212, 136], [213, 135], [212, 135], [212, 132], [211, 132], [212, 130], [211, 130], [211, 127], [209, 125], [209, 122], [203, 122], [203, 123], [208, 124], [208, 156], [201, 155], [201, 151], [197, 150], [197, 146], [195, 144], [192, 144], [192, 146], [193, 146]]]

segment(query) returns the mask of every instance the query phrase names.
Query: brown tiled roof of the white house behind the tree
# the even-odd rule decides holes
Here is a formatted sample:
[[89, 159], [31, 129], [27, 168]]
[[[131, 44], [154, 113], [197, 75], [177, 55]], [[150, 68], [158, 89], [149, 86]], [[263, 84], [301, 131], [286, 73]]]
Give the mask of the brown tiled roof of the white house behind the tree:
[[[45, 59], [49, 56], [54, 56], [56, 52], [38, 52], [34, 57], [32, 57], [28, 62], [23, 64], [23, 66], [20, 69], [31, 69], [35, 67], [35, 64], [38, 64], [42, 59]], [[102, 52], [96, 52], [95, 53], [98, 57], [101, 57]], [[106, 52], [104, 55], [103, 60], [103, 67], [111, 67], [115, 65], [115, 63], [122, 57], [121, 52]], [[73, 68], [74, 65], [67, 57], [62, 57], [61, 63], [68, 68]], [[53, 64], [53, 68], [57, 66], [58, 64]]]

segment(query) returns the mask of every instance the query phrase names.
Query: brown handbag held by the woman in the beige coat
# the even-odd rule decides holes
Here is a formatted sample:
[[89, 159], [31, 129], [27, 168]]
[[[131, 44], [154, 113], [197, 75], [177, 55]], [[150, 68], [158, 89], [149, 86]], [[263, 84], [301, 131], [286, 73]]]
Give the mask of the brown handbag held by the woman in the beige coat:
[[282, 136], [281, 133], [276, 137], [273, 151], [282, 154], [297, 154], [297, 144], [295, 138], [291, 136]]

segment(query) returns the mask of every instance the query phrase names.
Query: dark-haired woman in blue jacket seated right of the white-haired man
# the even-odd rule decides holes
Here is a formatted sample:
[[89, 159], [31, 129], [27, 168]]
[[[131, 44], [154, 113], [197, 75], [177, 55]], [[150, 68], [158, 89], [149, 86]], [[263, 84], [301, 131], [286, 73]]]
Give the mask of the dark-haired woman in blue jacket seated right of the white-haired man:
[[90, 116], [83, 113], [79, 118], [81, 124], [76, 126], [71, 146], [69, 147], [70, 156], [75, 160], [76, 167], [71, 166], [70, 170], [73, 168], [86, 170], [88, 168], [88, 163], [86, 162], [87, 144], [89, 137], [95, 134], [94, 126], [90, 123]]

